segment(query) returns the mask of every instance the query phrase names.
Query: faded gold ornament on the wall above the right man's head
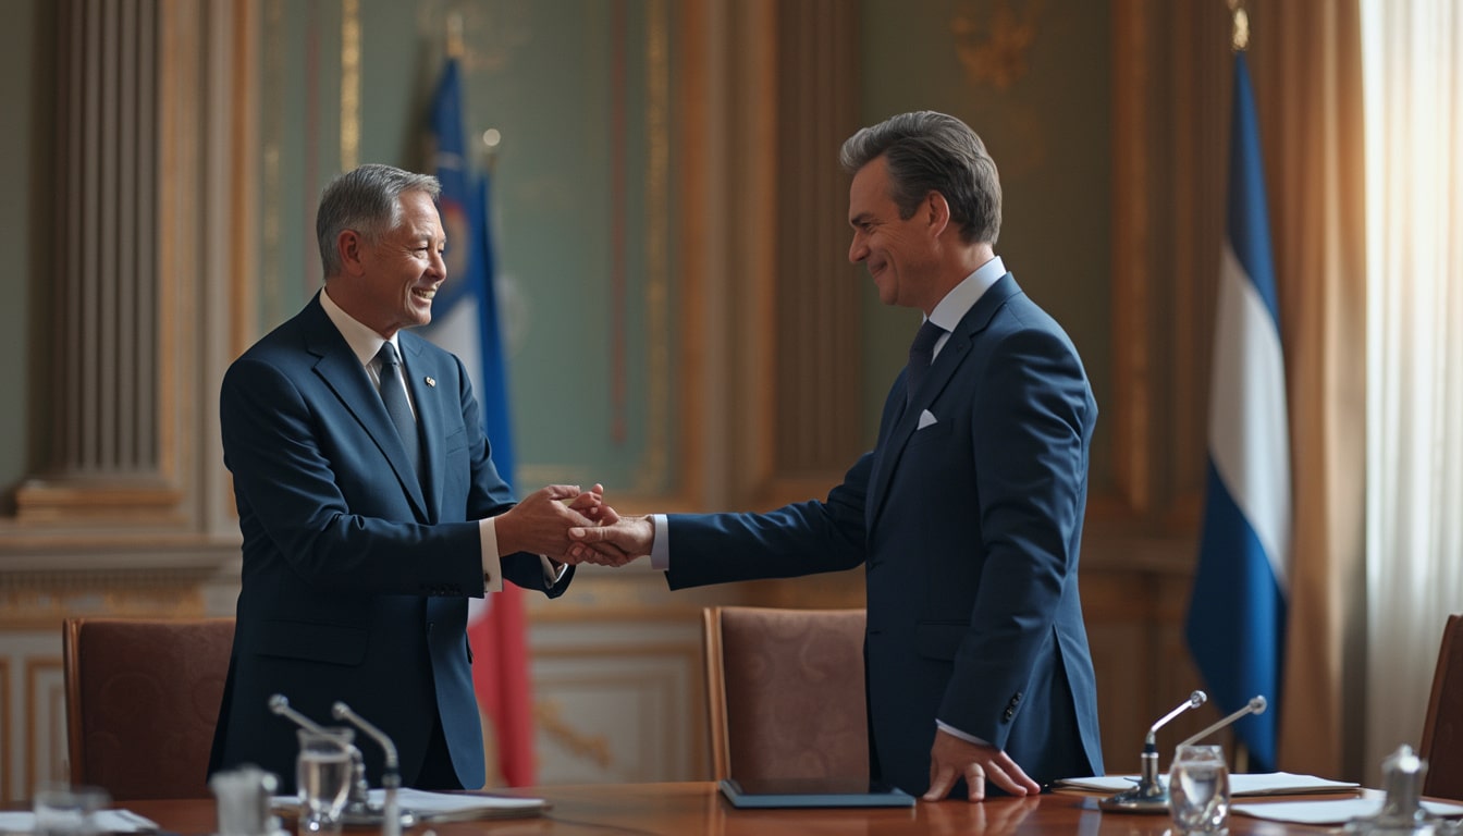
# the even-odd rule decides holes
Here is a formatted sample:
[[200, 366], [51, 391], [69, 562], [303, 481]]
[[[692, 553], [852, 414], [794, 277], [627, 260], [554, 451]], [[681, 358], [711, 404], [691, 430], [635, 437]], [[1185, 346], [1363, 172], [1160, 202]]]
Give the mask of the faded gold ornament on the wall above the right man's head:
[[[1017, 13], [1012, 4], [1018, 4]], [[949, 20], [955, 54], [971, 85], [1009, 89], [1027, 70], [1027, 53], [1036, 42], [1042, 0], [966, 0]]]

